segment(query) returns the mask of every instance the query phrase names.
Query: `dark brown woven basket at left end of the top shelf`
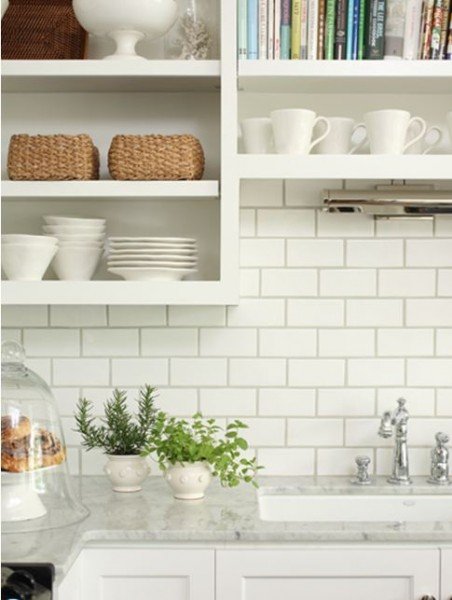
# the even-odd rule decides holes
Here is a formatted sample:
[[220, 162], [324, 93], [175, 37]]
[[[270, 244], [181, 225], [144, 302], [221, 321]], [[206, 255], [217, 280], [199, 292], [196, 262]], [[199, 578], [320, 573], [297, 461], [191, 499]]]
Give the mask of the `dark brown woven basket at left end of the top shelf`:
[[2, 20], [2, 59], [85, 57], [87, 34], [71, 0], [11, 0]]

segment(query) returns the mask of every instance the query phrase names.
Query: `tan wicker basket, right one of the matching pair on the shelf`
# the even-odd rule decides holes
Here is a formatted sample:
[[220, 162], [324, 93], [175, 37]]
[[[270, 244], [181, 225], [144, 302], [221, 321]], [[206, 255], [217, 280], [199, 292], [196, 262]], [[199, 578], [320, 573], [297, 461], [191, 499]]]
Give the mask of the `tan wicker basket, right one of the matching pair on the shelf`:
[[192, 135], [117, 135], [108, 153], [113, 179], [201, 179], [204, 151]]

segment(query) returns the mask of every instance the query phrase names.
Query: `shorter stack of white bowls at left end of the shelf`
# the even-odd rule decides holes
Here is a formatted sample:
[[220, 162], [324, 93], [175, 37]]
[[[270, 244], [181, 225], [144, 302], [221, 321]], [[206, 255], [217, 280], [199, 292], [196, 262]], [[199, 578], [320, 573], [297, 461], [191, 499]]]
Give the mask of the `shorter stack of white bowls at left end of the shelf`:
[[57, 250], [56, 237], [2, 235], [2, 269], [12, 281], [40, 281]]

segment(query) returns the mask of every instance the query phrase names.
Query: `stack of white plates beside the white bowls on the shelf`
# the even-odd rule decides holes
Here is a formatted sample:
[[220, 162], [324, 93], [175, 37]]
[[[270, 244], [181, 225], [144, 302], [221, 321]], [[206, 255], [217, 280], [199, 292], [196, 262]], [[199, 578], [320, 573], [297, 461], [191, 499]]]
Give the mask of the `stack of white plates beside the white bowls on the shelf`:
[[130, 281], [179, 281], [196, 272], [192, 238], [108, 238], [108, 270]]

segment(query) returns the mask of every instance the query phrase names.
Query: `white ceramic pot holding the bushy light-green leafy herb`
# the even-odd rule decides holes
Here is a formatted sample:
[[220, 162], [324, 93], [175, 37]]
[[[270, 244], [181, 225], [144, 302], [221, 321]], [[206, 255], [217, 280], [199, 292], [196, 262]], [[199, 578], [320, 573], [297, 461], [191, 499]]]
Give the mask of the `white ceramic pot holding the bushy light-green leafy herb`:
[[164, 475], [179, 500], [199, 500], [212, 481], [212, 472], [205, 462], [171, 465]]

